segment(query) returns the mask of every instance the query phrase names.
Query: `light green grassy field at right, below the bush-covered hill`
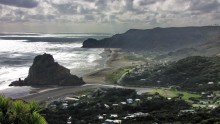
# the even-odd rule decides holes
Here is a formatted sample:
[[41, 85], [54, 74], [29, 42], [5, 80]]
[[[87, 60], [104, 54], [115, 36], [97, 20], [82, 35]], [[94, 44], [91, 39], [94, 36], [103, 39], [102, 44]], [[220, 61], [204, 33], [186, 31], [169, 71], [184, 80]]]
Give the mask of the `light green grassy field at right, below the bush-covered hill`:
[[152, 93], [159, 93], [161, 96], [167, 97], [167, 98], [172, 98], [179, 96], [179, 94], [182, 94], [182, 99], [187, 101], [187, 102], [192, 102], [189, 100], [189, 98], [194, 97], [194, 98], [199, 98], [201, 95], [195, 94], [195, 93], [189, 93], [187, 91], [178, 91], [178, 90], [171, 90], [167, 88], [155, 88], [152, 90]]

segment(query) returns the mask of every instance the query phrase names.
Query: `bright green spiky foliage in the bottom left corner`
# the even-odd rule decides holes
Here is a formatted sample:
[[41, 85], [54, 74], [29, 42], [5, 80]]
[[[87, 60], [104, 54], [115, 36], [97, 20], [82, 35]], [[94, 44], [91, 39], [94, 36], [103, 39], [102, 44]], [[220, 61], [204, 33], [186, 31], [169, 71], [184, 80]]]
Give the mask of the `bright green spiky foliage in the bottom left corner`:
[[37, 103], [0, 96], [0, 124], [47, 124]]

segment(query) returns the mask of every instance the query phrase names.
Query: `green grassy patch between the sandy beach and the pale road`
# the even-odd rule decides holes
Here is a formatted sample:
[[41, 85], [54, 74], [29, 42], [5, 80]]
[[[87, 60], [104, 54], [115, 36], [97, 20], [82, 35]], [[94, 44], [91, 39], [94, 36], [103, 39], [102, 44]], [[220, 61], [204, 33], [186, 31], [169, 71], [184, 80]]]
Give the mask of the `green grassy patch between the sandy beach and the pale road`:
[[108, 74], [106, 79], [110, 81], [111, 83], [116, 83], [120, 77], [127, 73], [129, 70], [131, 70], [132, 67], [125, 67], [125, 68], [119, 68], [112, 73]]

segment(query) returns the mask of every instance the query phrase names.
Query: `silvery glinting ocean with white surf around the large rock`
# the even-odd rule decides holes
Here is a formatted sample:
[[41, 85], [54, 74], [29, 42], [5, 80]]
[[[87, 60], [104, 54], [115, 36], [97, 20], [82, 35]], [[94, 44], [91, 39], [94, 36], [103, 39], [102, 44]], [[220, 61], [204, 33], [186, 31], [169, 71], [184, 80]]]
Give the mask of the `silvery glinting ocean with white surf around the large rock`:
[[[49, 53], [55, 61], [83, 76], [105, 66], [104, 49], [81, 48], [87, 38], [102, 39], [111, 34], [0, 34], [0, 91], [18, 78], [28, 75], [35, 56]], [[1, 92], [0, 92], [1, 93]]]

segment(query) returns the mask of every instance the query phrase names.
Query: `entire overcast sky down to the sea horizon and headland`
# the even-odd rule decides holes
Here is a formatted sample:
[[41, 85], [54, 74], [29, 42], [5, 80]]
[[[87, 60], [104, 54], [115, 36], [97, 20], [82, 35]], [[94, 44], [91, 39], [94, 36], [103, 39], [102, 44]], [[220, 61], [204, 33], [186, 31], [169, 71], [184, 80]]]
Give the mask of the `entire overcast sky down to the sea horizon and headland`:
[[122, 33], [220, 24], [220, 0], [0, 0], [0, 32]]

